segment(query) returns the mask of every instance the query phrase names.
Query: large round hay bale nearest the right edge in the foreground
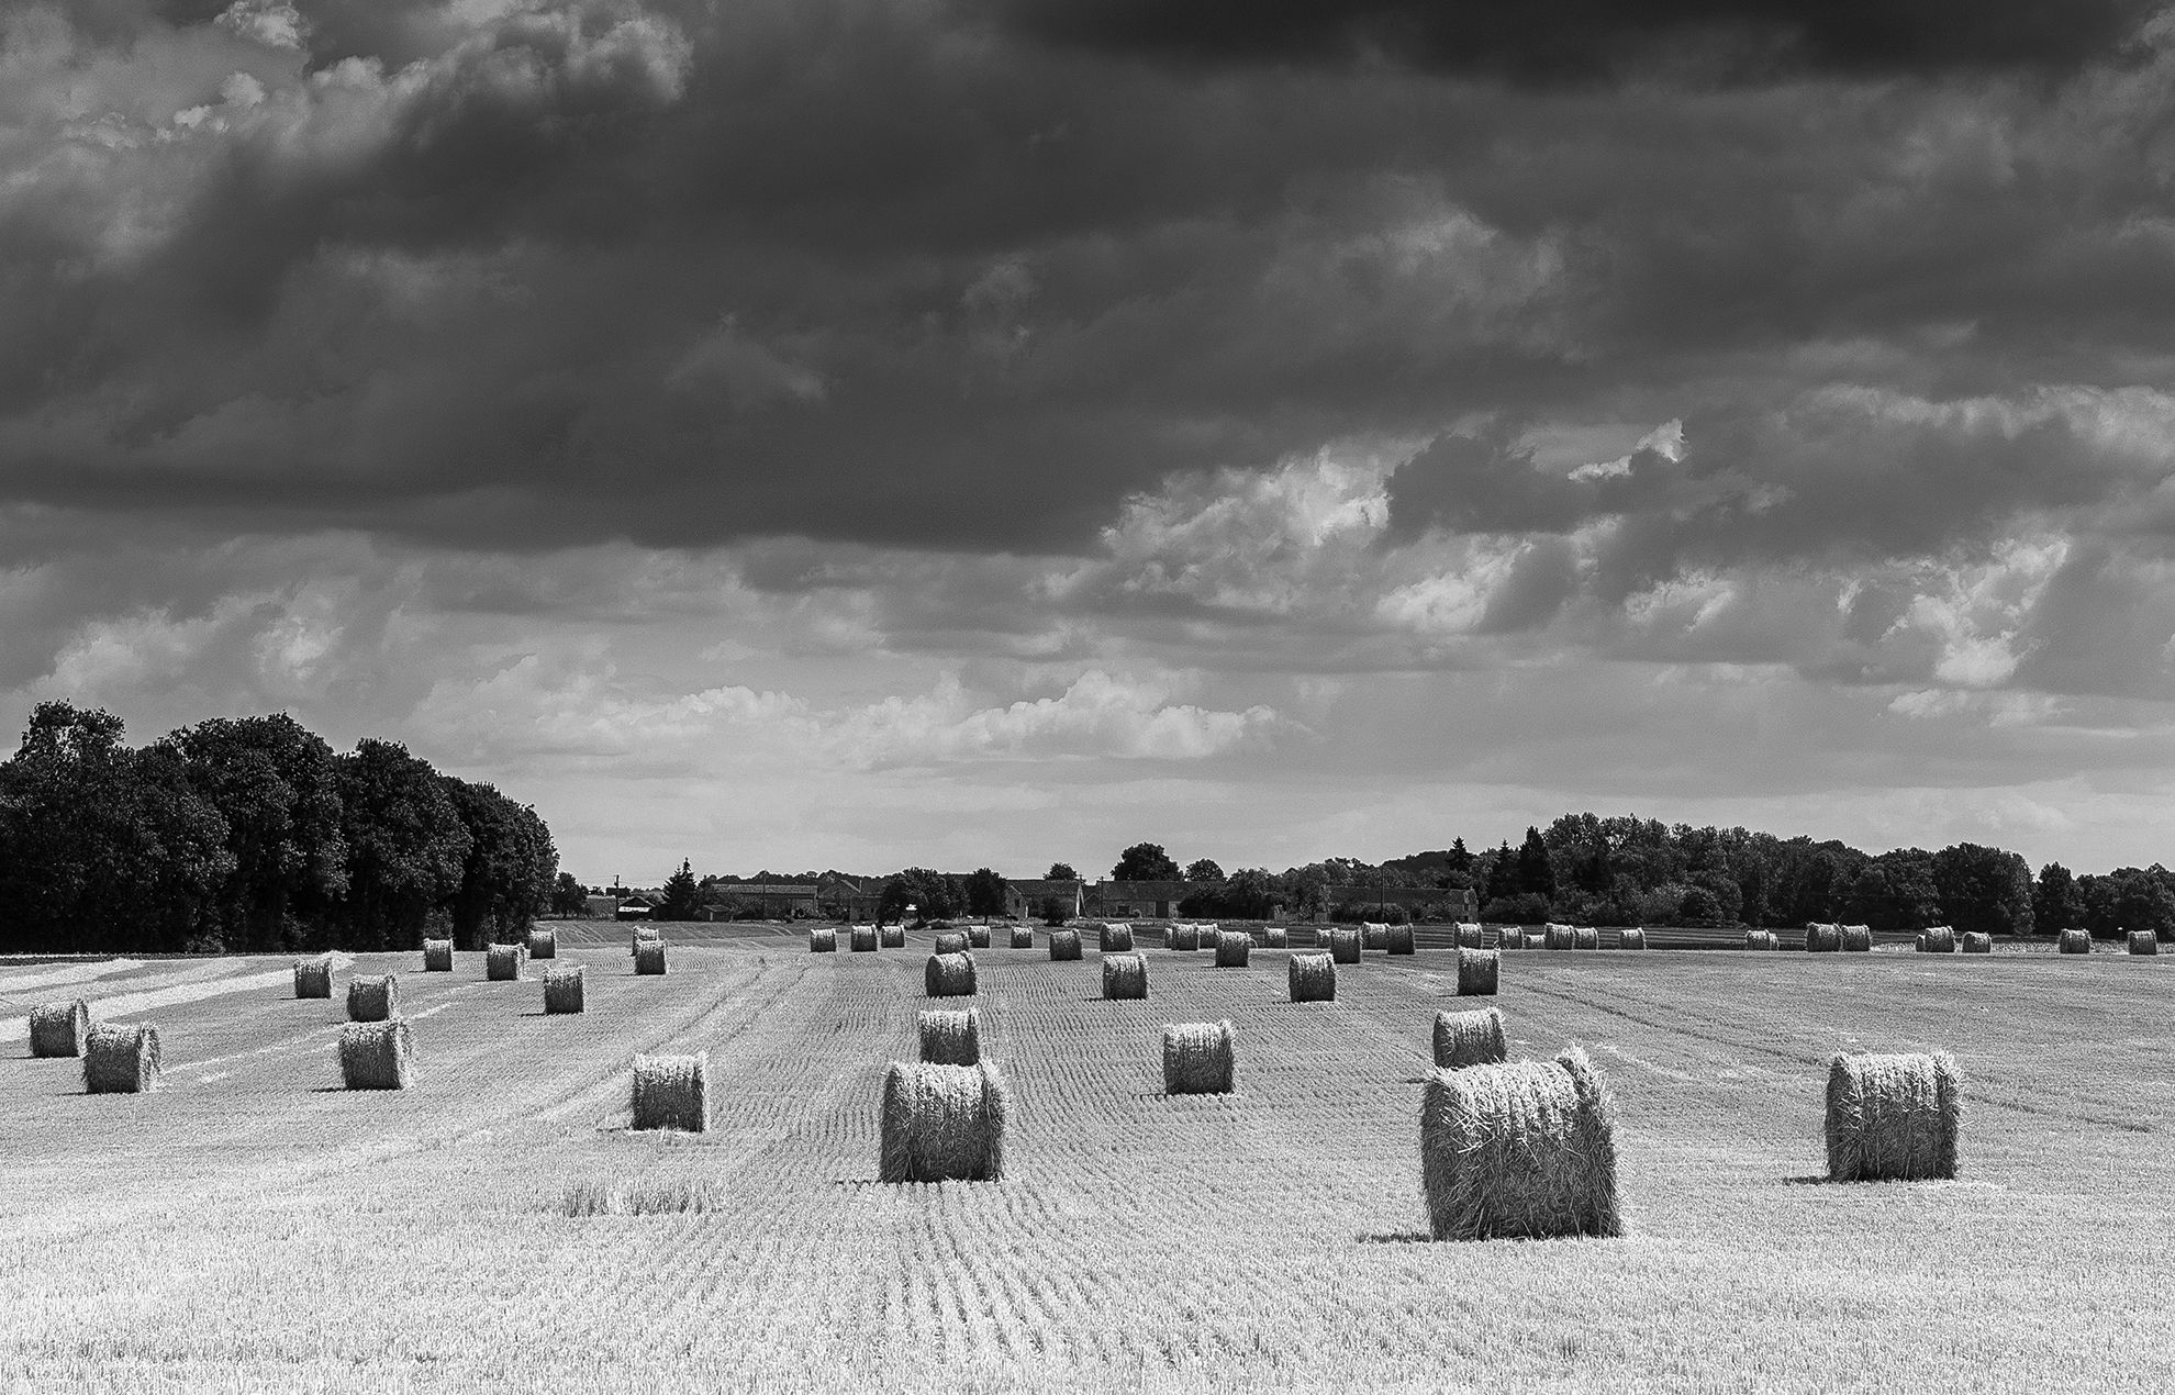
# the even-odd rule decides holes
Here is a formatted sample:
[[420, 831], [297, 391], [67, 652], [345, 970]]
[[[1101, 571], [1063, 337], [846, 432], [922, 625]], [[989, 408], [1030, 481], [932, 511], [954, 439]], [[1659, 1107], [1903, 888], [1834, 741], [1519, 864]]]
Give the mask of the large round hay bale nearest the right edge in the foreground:
[[1955, 1177], [1964, 1075], [1947, 1051], [1836, 1055], [1827, 1066], [1831, 1182]]

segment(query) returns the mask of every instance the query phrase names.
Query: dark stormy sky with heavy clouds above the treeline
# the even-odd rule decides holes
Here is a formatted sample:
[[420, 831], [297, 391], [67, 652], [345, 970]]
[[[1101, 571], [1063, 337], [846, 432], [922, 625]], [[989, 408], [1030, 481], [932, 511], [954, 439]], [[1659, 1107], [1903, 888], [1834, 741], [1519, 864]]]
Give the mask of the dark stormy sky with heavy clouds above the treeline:
[[0, 633], [585, 881], [2168, 862], [2175, 9], [15, 0]]

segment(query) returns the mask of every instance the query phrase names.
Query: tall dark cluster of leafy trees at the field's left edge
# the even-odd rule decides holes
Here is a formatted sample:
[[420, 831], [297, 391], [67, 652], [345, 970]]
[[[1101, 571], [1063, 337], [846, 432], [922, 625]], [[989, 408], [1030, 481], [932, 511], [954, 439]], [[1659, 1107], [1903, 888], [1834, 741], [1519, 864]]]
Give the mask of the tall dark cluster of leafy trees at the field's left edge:
[[533, 807], [396, 742], [337, 755], [285, 714], [122, 738], [109, 712], [39, 703], [0, 764], [0, 949], [398, 949], [426, 931], [476, 949], [572, 881]]

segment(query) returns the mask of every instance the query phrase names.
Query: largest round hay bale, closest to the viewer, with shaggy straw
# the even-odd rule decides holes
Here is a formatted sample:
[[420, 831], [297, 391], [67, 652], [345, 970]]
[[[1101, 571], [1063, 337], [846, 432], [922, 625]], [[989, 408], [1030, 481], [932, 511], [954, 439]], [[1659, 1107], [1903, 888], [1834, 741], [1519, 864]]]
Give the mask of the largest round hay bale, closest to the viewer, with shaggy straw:
[[1438, 1240], [1620, 1236], [1616, 1103], [1586, 1051], [1429, 1075], [1420, 1186]]

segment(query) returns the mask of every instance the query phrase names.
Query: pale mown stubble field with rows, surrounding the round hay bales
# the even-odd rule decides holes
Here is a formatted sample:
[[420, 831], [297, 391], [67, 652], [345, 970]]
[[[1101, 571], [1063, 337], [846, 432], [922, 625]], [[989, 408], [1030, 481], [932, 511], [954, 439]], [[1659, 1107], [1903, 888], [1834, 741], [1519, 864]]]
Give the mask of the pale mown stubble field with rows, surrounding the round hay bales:
[[[165, 1038], [157, 1095], [0, 1045], [0, 1382], [2175, 1388], [2166, 958], [1507, 953], [1514, 1058], [1583, 1042], [1609, 1077], [1631, 1234], [1438, 1245], [1416, 1119], [1446, 955], [1368, 955], [1294, 1005], [1283, 951], [1146, 949], [1148, 1001], [1105, 1003], [1092, 945], [1040, 942], [977, 951], [1009, 1175], [942, 1186], [874, 1182], [927, 936], [681, 947], [668, 977], [598, 936], [561, 951], [583, 1016], [542, 1016], [539, 966], [359, 955], [402, 973], [398, 1095], [337, 1090], [346, 973], [326, 1003], [259, 982], [283, 960], [0, 964], [0, 1019], [239, 984], [130, 1014]], [[1164, 1097], [1161, 1023], [1225, 1016], [1238, 1092]], [[1818, 1180], [1838, 1047], [1957, 1053], [1962, 1180]], [[626, 1132], [631, 1058], [694, 1049], [713, 1132]], [[563, 1214], [613, 1188], [703, 1210]]]

